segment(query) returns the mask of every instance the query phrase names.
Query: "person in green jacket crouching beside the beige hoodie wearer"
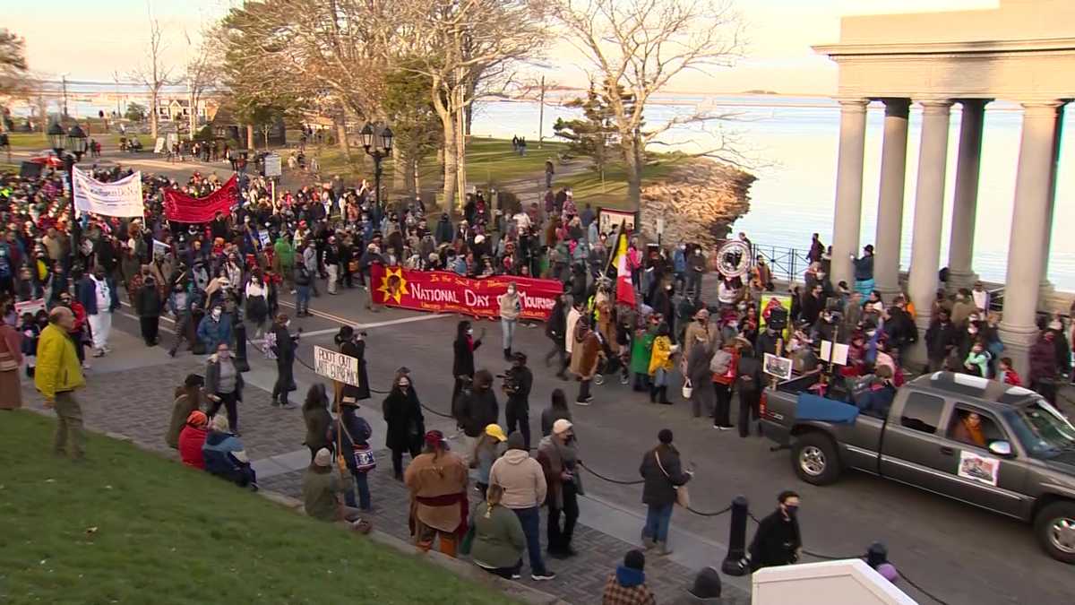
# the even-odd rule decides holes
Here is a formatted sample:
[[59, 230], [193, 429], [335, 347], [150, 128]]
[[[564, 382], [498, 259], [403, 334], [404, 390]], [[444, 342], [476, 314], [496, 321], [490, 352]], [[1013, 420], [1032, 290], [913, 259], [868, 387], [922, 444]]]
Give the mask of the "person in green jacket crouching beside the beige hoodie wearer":
[[512, 509], [500, 504], [503, 495], [504, 488], [489, 486], [485, 504], [477, 505], [474, 518], [471, 519], [474, 526], [471, 560], [490, 574], [517, 580], [527, 538], [519, 518]]

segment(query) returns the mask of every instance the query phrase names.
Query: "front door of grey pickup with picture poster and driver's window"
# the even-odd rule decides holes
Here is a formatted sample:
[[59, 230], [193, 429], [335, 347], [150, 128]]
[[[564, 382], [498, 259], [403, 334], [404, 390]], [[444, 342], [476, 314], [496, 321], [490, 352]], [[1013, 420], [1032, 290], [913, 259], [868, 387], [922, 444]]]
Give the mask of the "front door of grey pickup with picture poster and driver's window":
[[1030, 506], [1026, 495], [1027, 469], [1015, 455], [989, 451], [994, 441], [1016, 445], [1000, 419], [976, 406], [956, 403], [946, 422], [941, 452], [947, 460], [937, 470], [948, 475], [945, 495], [998, 512], [1021, 517]]

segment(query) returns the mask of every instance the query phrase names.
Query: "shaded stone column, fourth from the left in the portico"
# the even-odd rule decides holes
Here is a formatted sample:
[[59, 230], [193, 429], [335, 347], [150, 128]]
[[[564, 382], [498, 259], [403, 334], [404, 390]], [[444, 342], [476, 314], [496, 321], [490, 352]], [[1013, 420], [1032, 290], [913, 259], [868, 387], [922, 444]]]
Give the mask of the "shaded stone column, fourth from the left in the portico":
[[964, 99], [959, 128], [959, 163], [951, 208], [951, 240], [948, 247], [948, 289], [971, 287], [974, 272], [974, 222], [978, 206], [978, 174], [981, 168], [981, 130], [986, 99]]

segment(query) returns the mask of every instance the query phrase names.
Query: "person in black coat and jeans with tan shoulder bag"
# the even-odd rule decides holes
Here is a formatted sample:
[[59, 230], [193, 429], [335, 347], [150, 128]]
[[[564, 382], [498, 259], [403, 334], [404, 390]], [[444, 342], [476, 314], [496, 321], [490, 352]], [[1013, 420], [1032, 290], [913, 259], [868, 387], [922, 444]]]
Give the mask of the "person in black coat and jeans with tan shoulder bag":
[[646, 549], [658, 547], [661, 554], [672, 552], [668, 547], [669, 525], [676, 503], [676, 488], [687, 484], [693, 473], [683, 470], [679, 451], [672, 445], [672, 432], [662, 428], [657, 434], [656, 448], [642, 456], [639, 474], [645, 480], [642, 503], [648, 506], [646, 524], [642, 527], [642, 543]]

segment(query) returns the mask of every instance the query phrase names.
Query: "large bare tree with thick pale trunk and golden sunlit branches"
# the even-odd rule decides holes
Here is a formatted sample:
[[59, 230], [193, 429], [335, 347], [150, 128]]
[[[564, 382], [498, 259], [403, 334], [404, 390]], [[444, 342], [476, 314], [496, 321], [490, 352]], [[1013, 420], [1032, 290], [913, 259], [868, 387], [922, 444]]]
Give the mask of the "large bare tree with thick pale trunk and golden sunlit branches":
[[444, 130], [444, 202], [463, 206], [467, 188], [465, 112], [479, 81], [511, 80], [515, 61], [540, 52], [544, 19], [539, 0], [402, 0], [406, 69], [430, 82]]

